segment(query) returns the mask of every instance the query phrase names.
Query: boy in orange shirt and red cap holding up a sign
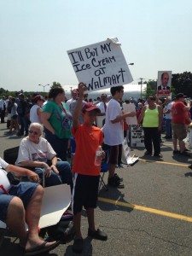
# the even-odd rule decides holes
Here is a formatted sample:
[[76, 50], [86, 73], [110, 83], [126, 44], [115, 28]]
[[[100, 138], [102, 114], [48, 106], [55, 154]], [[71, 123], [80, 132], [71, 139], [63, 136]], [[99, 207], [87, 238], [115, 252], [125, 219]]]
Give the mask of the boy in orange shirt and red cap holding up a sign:
[[[88, 217], [88, 236], [106, 241], [108, 236], [97, 229], [94, 220], [94, 208], [96, 208], [98, 186], [101, 166], [95, 166], [96, 149], [102, 144], [102, 130], [93, 125], [100, 109], [93, 103], [86, 103], [82, 109], [84, 91], [86, 86], [79, 84], [79, 99], [73, 112], [73, 137], [76, 142], [75, 156], [73, 160], [73, 222], [76, 236], [73, 243], [73, 252], [83, 251], [83, 238], [80, 230], [82, 207], [86, 209]], [[79, 115], [83, 112], [84, 123], [79, 125]], [[103, 155], [104, 157], [104, 155]]]

